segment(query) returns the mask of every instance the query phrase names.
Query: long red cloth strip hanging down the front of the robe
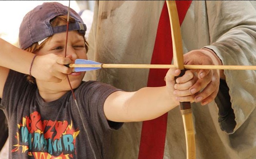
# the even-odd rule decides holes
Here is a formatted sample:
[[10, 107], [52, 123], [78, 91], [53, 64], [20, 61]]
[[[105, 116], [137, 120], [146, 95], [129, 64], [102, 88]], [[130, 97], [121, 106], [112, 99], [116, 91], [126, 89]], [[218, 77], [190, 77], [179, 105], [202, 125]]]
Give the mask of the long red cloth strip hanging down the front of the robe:
[[[176, 1], [180, 24], [182, 24], [191, 0]], [[157, 37], [151, 64], [171, 64], [173, 58], [172, 35], [166, 3], [159, 19]], [[165, 86], [163, 80], [168, 69], [150, 69], [148, 87]], [[140, 139], [139, 159], [162, 159], [165, 149], [167, 113], [154, 120], [144, 121]]]

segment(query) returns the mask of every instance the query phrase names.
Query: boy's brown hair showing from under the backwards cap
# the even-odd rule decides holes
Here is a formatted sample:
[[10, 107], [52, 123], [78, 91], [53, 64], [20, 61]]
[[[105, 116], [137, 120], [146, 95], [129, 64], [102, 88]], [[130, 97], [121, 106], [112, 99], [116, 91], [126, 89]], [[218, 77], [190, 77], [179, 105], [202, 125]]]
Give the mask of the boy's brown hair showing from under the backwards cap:
[[[65, 25], [67, 24], [67, 15], [62, 15], [62, 16], [57, 16], [56, 18], [54, 18], [50, 23], [52, 25], [52, 27], [56, 27], [56, 26], [61, 26], [61, 25]], [[72, 18], [72, 17], [69, 17], [69, 23], [75, 23], [75, 19]], [[82, 35], [82, 34], [81, 34]], [[45, 43], [47, 41], [49, 41], [50, 39], [52, 38], [52, 36], [48, 37], [44, 42], [42, 42], [40, 45], [38, 45], [38, 42], [35, 42], [33, 45], [31, 45], [29, 48], [25, 49], [26, 51], [28, 52], [31, 52], [31, 53], [35, 53], [37, 52], [38, 50], [42, 49], [44, 46], [45, 46]], [[83, 37], [84, 38], [84, 37]], [[87, 41], [85, 40], [84, 38], [84, 43], [85, 43], [85, 49], [86, 49], [86, 52], [88, 51], [88, 43]], [[30, 75], [27, 75], [27, 80], [31, 83], [35, 83], [35, 78], [30, 76]]]

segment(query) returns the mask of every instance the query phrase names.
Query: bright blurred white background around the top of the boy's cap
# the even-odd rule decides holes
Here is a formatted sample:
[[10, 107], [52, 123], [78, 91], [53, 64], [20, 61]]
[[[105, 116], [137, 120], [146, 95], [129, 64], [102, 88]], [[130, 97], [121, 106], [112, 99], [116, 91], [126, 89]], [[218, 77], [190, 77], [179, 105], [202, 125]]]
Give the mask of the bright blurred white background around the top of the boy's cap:
[[[35, 8], [37, 5], [42, 4], [47, 1], [55, 0], [22, 0], [22, 1], [12, 1], [12, 0], [1, 0], [0, 1], [0, 15], [1, 15], [1, 25], [0, 25], [0, 38], [8, 41], [16, 46], [18, 46], [18, 35], [19, 26], [22, 22], [23, 17]], [[56, 0], [63, 5], [68, 6], [68, 0]], [[84, 23], [87, 25], [87, 35], [93, 20], [93, 8], [94, 1], [89, 0], [71, 0], [70, 7], [74, 9], [83, 19]], [[86, 35], [86, 36], [87, 36]]]

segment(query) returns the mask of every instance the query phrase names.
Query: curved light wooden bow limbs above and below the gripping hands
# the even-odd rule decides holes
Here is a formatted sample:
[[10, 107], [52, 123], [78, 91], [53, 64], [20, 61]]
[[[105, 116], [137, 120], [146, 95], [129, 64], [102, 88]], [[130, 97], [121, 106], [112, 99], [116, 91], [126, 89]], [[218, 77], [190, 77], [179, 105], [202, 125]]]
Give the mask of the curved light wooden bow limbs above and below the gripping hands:
[[[184, 61], [183, 61], [183, 50], [182, 50], [182, 38], [180, 32], [180, 22], [178, 19], [178, 12], [176, 2], [172, 0], [166, 1], [170, 25], [172, 31], [172, 43], [173, 43], [173, 61], [174, 66], [181, 69], [180, 76], [184, 75]], [[196, 158], [196, 144], [195, 144], [195, 133], [193, 126], [193, 116], [190, 102], [180, 102], [182, 120], [185, 130], [186, 145], [187, 145], [187, 159]]]

